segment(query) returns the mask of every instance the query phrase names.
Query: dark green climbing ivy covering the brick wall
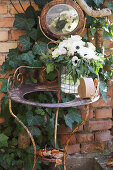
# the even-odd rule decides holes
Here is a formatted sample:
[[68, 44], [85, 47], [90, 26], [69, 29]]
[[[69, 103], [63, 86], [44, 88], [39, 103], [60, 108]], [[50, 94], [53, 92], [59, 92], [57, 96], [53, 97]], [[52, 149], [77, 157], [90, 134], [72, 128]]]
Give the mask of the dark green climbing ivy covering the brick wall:
[[[19, 13], [15, 15], [14, 27], [21, 30], [26, 30], [26, 34], [19, 37], [19, 46], [15, 49], [10, 49], [8, 58], [2, 65], [2, 74], [6, 74], [8, 71], [12, 71], [18, 66], [36, 66], [41, 67], [44, 65], [43, 57], [46, 51], [48, 40], [43, 36], [39, 28], [38, 16], [40, 16], [41, 9], [46, 0], [34, 0], [38, 5], [39, 10], [35, 11], [32, 6], [29, 6], [25, 13]], [[104, 0], [86, 0], [89, 6], [94, 9], [103, 8]], [[107, 7], [113, 10], [113, 2], [108, 1]], [[108, 17], [92, 18], [87, 16], [86, 27], [90, 28], [88, 34], [94, 38], [96, 28], [103, 29], [103, 39], [113, 39], [113, 24], [109, 23]], [[88, 34], [84, 36], [84, 39], [88, 40]], [[21, 44], [21, 46], [20, 46]], [[99, 50], [99, 49], [98, 49]], [[113, 63], [113, 56], [107, 55], [105, 60], [106, 64], [111, 67]], [[51, 69], [51, 67], [48, 67]], [[104, 100], [106, 100], [105, 88], [107, 87], [107, 81], [111, 79], [113, 74], [112, 70], [102, 70], [100, 73], [100, 89]], [[48, 74], [47, 79], [54, 80], [57, 74]], [[27, 81], [36, 83], [35, 78], [27, 79]], [[7, 98], [7, 79], [2, 80], [1, 92], [5, 93], [2, 99], [1, 116], [5, 117], [5, 123], [0, 126], [0, 168], [13, 170], [15, 167], [26, 170], [32, 169], [33, 164], [33, 147], [32, 145], [26, 149], [18, 147], [18, 135], [25, 133], [23, 128], [15, 121], [9, 114], [8, 98]], [[56, 102], [57, 93], [40, 93], [36, 96], [29, 96], [29, 98], [37, 98], [40, 102]], [[73, 99], [71, 95], [62, 94], [62, 102], [70, 101]], [[23, 123], [29, 127], [31, 134], [34, 136], [37, 150], [39, 148], [53, 147], [53, 127], [55, 109], [31, 107], [26, 105], [13, 104], [13, 111], [17, 113], [17, 116], [23, 121]], [[81, 116], [77, 112], [76, 108], [60, 109], [59, 110], [59, 125], [64, 123], [66, 126], [73, 129], [77, 123], [81, 122]], [[58, 145], [58, 143], [57, 143]], [[43, 165], [40, 161], [37, 161], [36, 169], [47, 169], [46, 165]]]

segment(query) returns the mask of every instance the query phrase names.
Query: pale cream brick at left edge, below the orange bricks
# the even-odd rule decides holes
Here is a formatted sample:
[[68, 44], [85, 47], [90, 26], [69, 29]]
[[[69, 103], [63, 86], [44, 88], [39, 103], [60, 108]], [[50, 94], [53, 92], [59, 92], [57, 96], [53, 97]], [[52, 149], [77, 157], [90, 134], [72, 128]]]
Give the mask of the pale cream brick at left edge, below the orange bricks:
[[9, 52], [9, 49], [16, 48], [17, 42], [3, 42], [0, 43], [0, 52], [5, 53]]

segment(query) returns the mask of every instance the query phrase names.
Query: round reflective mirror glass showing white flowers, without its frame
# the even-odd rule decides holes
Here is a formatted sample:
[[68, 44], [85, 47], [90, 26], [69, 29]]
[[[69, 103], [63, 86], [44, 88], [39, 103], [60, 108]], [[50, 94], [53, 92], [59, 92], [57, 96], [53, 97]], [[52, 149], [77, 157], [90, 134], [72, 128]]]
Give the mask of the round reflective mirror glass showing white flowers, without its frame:
[[46, 15], [46, 23], [49, 29], [57, 34], [72, 32], [77, 27], [78, 22], [77, 11], [67, 4], [53, 6]]

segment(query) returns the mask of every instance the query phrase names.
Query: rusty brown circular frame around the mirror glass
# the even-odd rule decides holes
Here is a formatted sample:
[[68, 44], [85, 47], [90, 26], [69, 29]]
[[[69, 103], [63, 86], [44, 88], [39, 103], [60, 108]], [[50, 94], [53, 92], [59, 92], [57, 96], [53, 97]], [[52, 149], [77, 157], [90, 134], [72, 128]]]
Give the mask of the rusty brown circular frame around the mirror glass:
[[[52, 32], [52, 30], [49, 28], [49, 26], [46, 22], [46, 15], [47, 15], [48, 11], [50, 10], [50, 8], [52, 8], [53, 6], [58, 5], [58, 4], [70, 5], [78, 13], [78, 17], [79, 17], [78, 25], [73, 31], [71, 31], [69, 33], [58, 34], [58, 33]], [[41, 23], [41, 27], [48, 35], [51, 35], [52, 37], [55, 37], [55, 38], [60, 38], [61, 36], [66, 36], [69, 34], [80, 35], [80, 33], [83, 31], [83, 29], [85, 27], [85, 17], [84, 17], [84, 13], [83, 13], [82, 9], [80, 8], [80, 6], [77, 3], [75, 3], [74, 1], [72, 1], [72, 0], [53, 0], [53, 1], [50, 1], [49, 3], [47, 3], [43, 7], [41, 15], [40, 15], [40, 23]]]

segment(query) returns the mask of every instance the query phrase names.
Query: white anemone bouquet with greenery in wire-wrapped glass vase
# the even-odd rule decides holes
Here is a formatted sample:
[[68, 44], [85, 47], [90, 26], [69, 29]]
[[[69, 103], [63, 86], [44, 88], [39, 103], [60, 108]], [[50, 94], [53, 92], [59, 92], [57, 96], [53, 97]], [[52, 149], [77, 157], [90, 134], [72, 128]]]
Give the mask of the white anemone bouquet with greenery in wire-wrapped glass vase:
[[104, 66], [104, 56], [96, 52], [91, 42], [83, 41], [79, 35], [71, 35], [48, 50], [46, 66], [51, 66], [48, 72], [61, 67], [61, 88], [64, 92], [70, 89], [71, 93], [76, 93], [76, 83], [81, 77], [97, 77]]

